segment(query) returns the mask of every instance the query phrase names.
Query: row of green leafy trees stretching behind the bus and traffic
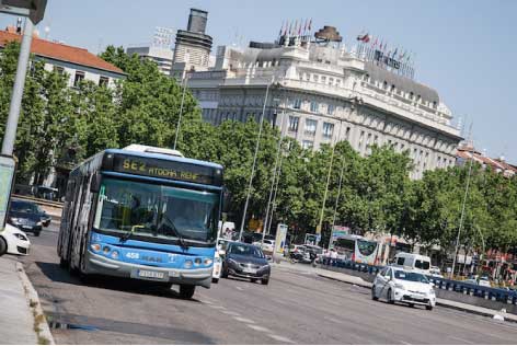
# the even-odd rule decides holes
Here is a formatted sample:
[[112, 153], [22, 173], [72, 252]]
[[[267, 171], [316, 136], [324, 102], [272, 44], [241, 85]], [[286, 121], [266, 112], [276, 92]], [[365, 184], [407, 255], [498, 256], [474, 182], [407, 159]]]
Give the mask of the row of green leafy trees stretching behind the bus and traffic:
[[[3, 136], [19, 44], [0, 56], [0, 135]], [[36, 183], [55, 164], [76, 164], [106, 148], [130, 143], [174, 147], [183, 88], [158, 67], [122, 47], [108, 47], [101, 57], [119, 67], [125, 79], [114, 89], [84, 81], [67, 88], [68, 76], [44, 70], [34, 62], [27, 76], [15, 143], [18, 178]], [[240, 222], [258, 124], [227, 120], [215, 127], [202, 120], [199, 107], [185, 92], [177, 149], [186, 157], [225, 166], [225, 183], [232, 194], [230, 220]], [[402, 235], [413, 243], [450, 249], [456, 242], [469, 166], [427, 171], [420, 181], [409, 178], [407, 152], [371, 147], [361, 158], [347, 141], [334, 149], [303, 150], [291, 138], [264, 123], [248, 219], [265, 217], [278, 141], [280, 175], [274, 222], [282, 221], [302, 239], [314, 232], [328, 185], [323, 235], [330, 228], [348, 226], [355, 233]], [[332, 166], [331, 166], [332, 161]], [[341, 176], [341, 172], [343, 175]], [[340, 191], [341, 180], [341, 191]], [[517, 245], [517, 178], [506, 178], [479, 165], [472, 168], [460, 242], [507, 250]]]

